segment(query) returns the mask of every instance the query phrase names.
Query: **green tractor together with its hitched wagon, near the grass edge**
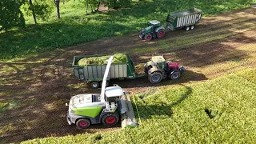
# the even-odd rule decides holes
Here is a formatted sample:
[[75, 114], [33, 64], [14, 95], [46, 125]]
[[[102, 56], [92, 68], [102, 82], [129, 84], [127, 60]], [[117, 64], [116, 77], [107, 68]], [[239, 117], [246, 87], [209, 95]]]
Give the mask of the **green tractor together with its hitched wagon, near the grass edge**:
[[182, 28], [186, 31], [194, 30], [195, 25], [200, 22], [201, 18], [202, 10], [197, 8], [170, 13], [167, 15], [166, 23], [163, 26], [158, 20], [147, 22], [148, 26], [142, 30], [139, 38], [150, 41], [153, 38], [162, 38], [170, 30]]

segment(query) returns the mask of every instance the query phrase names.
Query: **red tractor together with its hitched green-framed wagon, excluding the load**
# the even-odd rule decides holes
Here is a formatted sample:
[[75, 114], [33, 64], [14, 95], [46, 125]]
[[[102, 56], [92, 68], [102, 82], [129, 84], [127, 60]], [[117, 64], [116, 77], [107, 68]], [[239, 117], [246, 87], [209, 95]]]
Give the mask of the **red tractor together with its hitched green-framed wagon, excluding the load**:
[[[180, 66], [178, 62], [166, 61], [163, 56], [153, 56], [149, 62], [144, 65], [145, 74], [135, 74], [134, 62], [131, 60], [128, 54], [126, 55], [126, 62], [112, 62], [110, 66], [110, 73], [108, 74], [107, 80], [118, 78], [118, 79], [134, 79], [147, 75], [149, 82], [157, 84], [162, 79], [178, 79], [181, 74], [185, 71], [183, 66]], [[86, 64], [79, 66], [78, 61], [82, 58], [99, 58], [98, 56], [74, 56], [73, 68], [74, 76], [82, 82], [90, 83], [92, 88], [98, 88], [101, 86], [103, 74], [106, 70], [106, 64]]]

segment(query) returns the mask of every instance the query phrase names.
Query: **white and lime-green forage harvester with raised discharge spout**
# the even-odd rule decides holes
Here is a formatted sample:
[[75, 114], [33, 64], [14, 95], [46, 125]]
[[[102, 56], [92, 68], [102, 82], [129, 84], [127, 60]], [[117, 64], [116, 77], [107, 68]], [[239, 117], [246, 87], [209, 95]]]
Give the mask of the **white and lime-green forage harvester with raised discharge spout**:
[[106, 87], [113, 57], [110, 57], [106, 66], [101, 94], [78, 94], [70, 99], [69, 105], [66, 104], [69, 106], [69, 125], [75, 124], [79, 129], [86, 129], [91, 124], [98, 123], [114, 126], [122, 120], [123, 127], [137, 126], [131, 103], [126, 100], [127, 92], [117, 85]]

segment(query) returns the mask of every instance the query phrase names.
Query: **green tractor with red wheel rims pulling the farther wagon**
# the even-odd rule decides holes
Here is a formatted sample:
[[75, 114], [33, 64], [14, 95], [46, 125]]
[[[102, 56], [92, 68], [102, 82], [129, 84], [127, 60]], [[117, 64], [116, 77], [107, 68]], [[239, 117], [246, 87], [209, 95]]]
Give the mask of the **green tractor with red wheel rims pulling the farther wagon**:
[[162, 38], [165, 35], [165, 28], [157, 20], [147, 22], [148, 26], [139, 34], [139, 38], [150, 41], [152, 38]]

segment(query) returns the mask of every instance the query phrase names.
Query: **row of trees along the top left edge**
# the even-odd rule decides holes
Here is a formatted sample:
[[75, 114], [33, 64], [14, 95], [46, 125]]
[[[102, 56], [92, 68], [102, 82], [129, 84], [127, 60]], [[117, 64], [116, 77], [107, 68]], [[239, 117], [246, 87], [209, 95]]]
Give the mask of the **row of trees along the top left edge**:
[[[56, 10], [56, 17], [61, 18], [60, 5], [70, 0], [1, 0], [0, 1], [0, 31], [10, 30], [14, 26], [24, 27], [24, 14], [33, 16], [34, 23], [38, 19], [46, 20], [53, 10]], [[85, 6], [88, 11], [98, 11], [99, 6], [105, 5], [112, 9], [130, 6], [132, 0], [76, 0]], [[74, 1], [73, 1], [74, 2]]]

